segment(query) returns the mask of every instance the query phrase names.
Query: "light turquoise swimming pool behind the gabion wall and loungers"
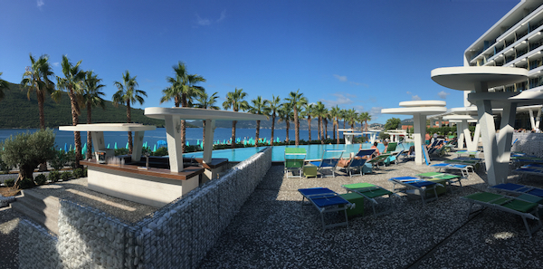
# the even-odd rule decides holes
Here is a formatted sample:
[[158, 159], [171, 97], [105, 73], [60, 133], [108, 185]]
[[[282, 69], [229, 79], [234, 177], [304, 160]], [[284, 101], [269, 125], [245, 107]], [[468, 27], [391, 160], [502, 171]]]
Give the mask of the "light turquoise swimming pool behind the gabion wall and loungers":
[[[413, 143], [403, 143], [399, 144], [396, 150], [408, 150], [409, 147], [413, 145]], [[283, 161], [285, 159], [285, 148], [296, 148], [296, 146], [273, 146], [271, 149], [271, 161]], [[298, 148], [304, 148], [307, 151], [306, 159], [322, 159], [322, 152], [325, 149], [342, 149], [345, 150], [343, 153], [343, 157], [348, 157], [351, 152], [357, 153], [358, 149], [360, 147], [360, 144], [351, 144], [351, 145], [345, 145], [345, 144], [339, 144], [339, 145], [321, 145], [321, 144], [312, 144], [312, 145], [300, 145]], [[239, 148], [239, 149], [216, 149], [213, 150], [213, 158], [225, 158], [229, 161], [233, 162], [239, 162], [243, 161], [245, 159], [249, 159], [252, 155], [256, 154], [258, 151], [264, 149], [266, 147], [258, 147], [258, 148]], [[369, 149], [371, 148], [370, 143], [364, 143], [362, 144], [362, 149]], [[381, 152], [385, 149], [385, 146], [383, 144], [379, 144], [377, 146], [377, 149], [379, 149]], [[193, 152], [193, 153], [186, 153], [183, 154], [183, 157], [185, 158], [202, 158], [204, 153], [202, 151], [200, 152]]]

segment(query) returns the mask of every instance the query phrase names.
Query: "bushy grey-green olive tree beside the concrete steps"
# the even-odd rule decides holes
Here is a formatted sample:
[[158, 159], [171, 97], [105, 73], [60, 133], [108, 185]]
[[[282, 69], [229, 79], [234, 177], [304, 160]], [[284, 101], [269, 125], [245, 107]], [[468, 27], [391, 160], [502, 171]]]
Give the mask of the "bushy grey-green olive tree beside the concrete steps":
[[18, 187], [24, 178], [33, 179], [33, 170], [40, 163], [54, 158], [54, 133], [51, 129], [38, 130], [34, 133], [21, 133], [4, 140], [1, 158], [11, 167], [19, 168], [19, 177], [15, 181]]

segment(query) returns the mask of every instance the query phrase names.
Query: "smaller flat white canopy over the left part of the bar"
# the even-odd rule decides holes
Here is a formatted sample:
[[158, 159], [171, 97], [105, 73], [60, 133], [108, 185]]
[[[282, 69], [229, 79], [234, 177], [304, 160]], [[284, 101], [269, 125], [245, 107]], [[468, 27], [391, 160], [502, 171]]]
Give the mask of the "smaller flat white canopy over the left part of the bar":
[[95, 151], [106, 150], [104, 131], [133, 131], [134, 142], [132, 147], [132, 161], [139, 161], [139, 159], [141, 159], [141, 148], [143, 147], [143, 135], [145, 131], [155, 129], [157, 129], [155, 126], [138, 123], [93, 123], [59, 127], [59, 130], [90, 131], [92, 146]]

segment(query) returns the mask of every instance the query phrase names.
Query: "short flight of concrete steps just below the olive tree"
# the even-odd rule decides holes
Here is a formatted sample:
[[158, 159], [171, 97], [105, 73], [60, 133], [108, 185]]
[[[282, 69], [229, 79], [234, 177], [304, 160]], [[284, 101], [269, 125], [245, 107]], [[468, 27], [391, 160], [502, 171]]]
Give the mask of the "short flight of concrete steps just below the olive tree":
[[12, 208], [58, 234], [60, 209], [58, 197], [45, 197], [31, 189], [22, 192], [23, 197], [17, 197], [17, 201], [12, 203]]

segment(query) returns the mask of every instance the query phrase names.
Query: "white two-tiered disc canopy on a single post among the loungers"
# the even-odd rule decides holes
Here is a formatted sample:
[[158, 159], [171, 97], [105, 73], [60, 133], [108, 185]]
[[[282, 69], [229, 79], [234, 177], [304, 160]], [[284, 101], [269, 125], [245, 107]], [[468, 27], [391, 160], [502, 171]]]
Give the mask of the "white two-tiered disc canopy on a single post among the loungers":
[[445, 101], [401, 101], [401, 108], [383, 109], [383, 114], [399, 114], [413, 116], [414, 163], [423, 164], [423, 145], [426, 134], [426, 116], [447, 111]]

